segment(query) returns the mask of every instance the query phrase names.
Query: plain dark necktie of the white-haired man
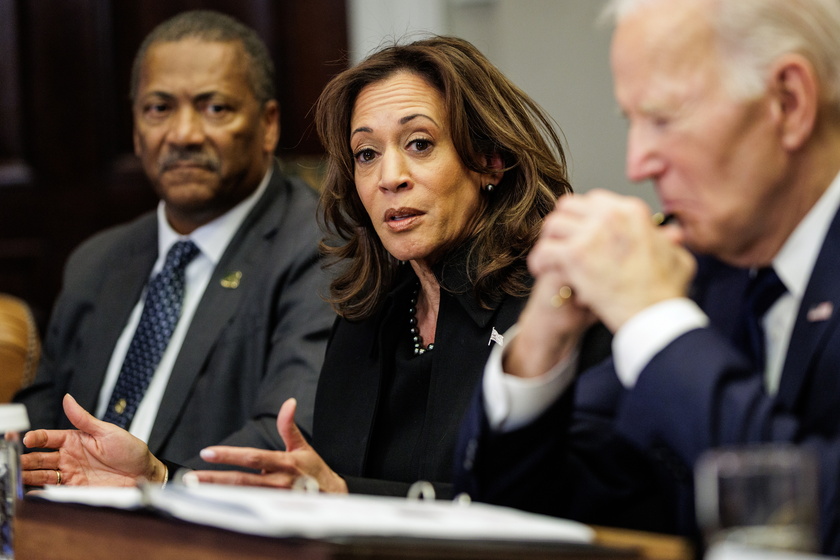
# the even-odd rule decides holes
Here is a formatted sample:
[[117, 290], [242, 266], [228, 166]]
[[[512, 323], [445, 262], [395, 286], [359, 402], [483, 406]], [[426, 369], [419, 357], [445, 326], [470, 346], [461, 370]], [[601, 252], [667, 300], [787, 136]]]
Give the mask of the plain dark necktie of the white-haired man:
[[738, 348], [752, 360], [754, 368], [759, 371], [764, 371], [766, 358], [761, 319], [786, 291], [787, 288], [771, 266], [758, 269], [747, 285], [734, 341]]

